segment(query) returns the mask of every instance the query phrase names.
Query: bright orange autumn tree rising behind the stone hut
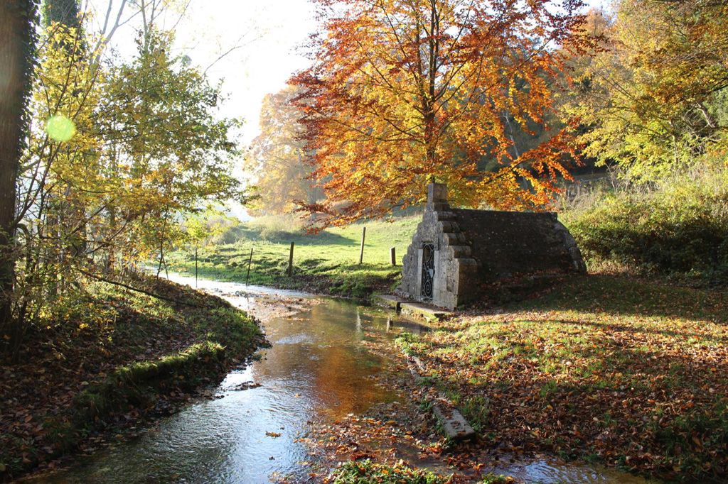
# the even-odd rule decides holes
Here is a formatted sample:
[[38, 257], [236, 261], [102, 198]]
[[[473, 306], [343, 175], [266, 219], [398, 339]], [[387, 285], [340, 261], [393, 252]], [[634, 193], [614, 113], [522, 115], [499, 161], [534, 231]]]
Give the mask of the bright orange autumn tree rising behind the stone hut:
[[[505, 119], [547, 124], [564, 68], [556, 48], [579, 49], [580, 0], [318, 3], [314, 65], [293, 83], [311, 100], [300, 106], [306, 146], [328, 197], [303, 208], [324, 223], [419, 203], [432, 177], [459, 205], [523, 208], [568, 176], [564, 132], [516, 156]], [[496, 169], [481, 169], [483, 157]]]

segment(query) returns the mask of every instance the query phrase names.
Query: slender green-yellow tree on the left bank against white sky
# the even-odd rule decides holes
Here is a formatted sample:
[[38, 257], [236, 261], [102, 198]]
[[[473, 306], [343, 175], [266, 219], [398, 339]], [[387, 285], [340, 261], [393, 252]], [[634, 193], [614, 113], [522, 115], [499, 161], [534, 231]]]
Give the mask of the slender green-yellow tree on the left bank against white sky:
[[216, 116], [219, 87], [173, 56], [172, 41], [170, 33], [141, 33], [138, 57], [111, 68], [100, 100], [109, 170], [103, 240], [132, 259], [164, 254], [183, 235], [186, 214], [242, 197], [231, 174], [240, 121]]

